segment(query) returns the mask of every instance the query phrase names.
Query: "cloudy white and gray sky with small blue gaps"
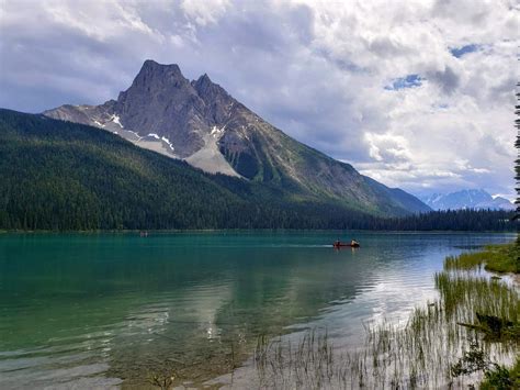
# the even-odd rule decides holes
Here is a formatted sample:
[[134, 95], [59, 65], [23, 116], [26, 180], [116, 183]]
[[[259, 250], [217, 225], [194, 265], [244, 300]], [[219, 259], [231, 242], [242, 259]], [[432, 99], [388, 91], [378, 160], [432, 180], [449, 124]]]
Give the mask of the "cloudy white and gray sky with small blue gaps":
[[0, 107], [99, 104], [145, 59], [414, 194], [515, 198], [511, 0], [0, 0]]

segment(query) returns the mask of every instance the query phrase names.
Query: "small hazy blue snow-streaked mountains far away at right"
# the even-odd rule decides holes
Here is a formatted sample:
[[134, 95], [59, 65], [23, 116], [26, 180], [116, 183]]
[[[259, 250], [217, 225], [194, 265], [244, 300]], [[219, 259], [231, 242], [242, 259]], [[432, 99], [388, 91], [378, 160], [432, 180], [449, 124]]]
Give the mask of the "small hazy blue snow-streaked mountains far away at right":
[[493, 198], [483, 189], [462, 190], [451, 193], [433, 193], [420, 198], [433, 210], [515, 210], [515, 204], [509, 200], [495, 197]]

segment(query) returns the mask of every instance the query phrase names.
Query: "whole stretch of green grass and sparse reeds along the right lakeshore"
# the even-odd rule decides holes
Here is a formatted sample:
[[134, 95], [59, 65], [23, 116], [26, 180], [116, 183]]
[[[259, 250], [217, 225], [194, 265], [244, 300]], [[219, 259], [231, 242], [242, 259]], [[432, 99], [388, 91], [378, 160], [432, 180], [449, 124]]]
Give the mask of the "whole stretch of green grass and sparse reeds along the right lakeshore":
[[[261, 387], [414, 389], [477, 383], [490, 371], [455, 376], [452, 369], [471, 356], [475, 343], [483, 356], [499, 361], [510, 361], [519, 347], [518, 289], [466, 272], [482, 267], [484, 259], [489, 256], [446, 258], [445, 270], [434, 275], [440, 298], [415, 309], [404, 326], [393, 321], [368, 326], [364, 343], [357, 349], [335, 348], [327, 332], [319, 330], [304, 334], [296, 346], [281, 337], [272, 342], [262, 338], [255, 355]], [[507, 332], [498, 338], [487, 337], [483, 330], [497, 321], [507, 325]], [[500, 378], [502, 374], [493, 375]]]

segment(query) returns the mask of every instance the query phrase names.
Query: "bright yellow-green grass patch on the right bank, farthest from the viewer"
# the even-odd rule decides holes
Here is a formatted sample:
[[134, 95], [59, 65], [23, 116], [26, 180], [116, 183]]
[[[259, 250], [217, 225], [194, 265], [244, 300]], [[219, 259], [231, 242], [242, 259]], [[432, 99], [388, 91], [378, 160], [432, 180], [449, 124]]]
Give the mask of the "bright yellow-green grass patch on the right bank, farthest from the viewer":
[[444, 269], [471, 270], [484, 268], [491, 272], [520, 272], [520, 248], [518, 243], [507, 245], [490, 245], [484, 250], [464, 253], [459, 256], [448, 256]]

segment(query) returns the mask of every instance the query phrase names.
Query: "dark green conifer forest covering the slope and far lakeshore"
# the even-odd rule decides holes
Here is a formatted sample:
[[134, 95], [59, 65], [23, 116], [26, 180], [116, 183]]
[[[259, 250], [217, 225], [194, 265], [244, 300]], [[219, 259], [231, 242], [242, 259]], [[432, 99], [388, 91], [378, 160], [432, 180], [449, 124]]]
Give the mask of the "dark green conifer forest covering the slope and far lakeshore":
[[0, 229], [512, 231], [504, 211], [383, 218], [138, 148], [109, 132], [0, 110]]

